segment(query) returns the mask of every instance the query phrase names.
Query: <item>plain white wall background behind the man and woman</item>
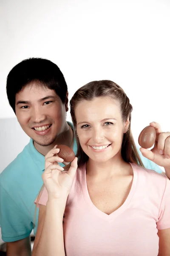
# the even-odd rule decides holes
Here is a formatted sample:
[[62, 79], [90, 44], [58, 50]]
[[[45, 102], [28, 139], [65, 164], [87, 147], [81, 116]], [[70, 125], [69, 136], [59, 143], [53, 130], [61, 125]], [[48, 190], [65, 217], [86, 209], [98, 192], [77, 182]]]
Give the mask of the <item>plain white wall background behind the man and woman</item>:
[[0, 0], [0, 172], [28, 142], [6, 76], [30, 57], [56, 63], [70, 97], [93, 80], [122, 86], [135, 140], [152, 121], [170, 130], [169, 0]]

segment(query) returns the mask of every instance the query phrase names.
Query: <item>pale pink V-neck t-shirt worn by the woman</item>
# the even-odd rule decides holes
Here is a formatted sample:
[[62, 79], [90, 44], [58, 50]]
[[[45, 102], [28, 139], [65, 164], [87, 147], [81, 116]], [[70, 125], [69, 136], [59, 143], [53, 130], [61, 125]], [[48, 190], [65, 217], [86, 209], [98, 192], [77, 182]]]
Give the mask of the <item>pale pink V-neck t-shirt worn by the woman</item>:
[[[170, 228], [170, 180], [136, 164], [124, 204], [110, 215], [92, 203], [78, 168], [63, 218], [66, 256], [157, 256], [158, 229]], [[46, 205], [44, 189], [39, 203]]]

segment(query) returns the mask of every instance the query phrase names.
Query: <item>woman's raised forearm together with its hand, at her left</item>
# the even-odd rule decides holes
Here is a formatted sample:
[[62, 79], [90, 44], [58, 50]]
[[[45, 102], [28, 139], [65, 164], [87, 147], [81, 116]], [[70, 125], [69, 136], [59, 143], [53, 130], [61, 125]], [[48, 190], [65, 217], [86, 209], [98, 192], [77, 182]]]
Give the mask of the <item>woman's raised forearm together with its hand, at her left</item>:
[[[48, 193], [48, 201], [42, 200], [43, 205], [40, 204], [32, 256], [65, 256], [62, 221], [68, 194], [77, 170], [77, 157], [71, 162], [69, 170], [63, 172], [64, 169], [57, 163], [63, 160], [54, 156], [58, 152], [59, 149], [54, 147], [45, 156], [45, 171], [42, 174], [42, 180]], [[43, 193], [41, 196], [43, 198]], [[39, 202], [37, 201], [37, 204]]]

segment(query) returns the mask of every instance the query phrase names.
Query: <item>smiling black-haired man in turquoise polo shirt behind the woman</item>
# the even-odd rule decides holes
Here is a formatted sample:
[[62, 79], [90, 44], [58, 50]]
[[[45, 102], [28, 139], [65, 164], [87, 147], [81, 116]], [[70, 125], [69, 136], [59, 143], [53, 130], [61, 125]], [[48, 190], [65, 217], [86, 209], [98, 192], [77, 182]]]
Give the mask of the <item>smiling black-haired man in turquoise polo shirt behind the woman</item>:
[[[6, 89], [9, 104], [31, 139], [0, 175], [2, 239], [7, 242], [8, 256], [31, 256], [29, 235], [34, 227], [34, 200], [42, 186], [44, 156], [56, 144], [68, 145], [75, 153], [77, 145], [72, 124], [66, 122], [67, 84], [56, 64], [41, 58], [24, 60], [8, 74]], [[142, 160], [146, 168], [161, 172], [147, 158]], [[38, 210], [34, 234], [37, 221]]]

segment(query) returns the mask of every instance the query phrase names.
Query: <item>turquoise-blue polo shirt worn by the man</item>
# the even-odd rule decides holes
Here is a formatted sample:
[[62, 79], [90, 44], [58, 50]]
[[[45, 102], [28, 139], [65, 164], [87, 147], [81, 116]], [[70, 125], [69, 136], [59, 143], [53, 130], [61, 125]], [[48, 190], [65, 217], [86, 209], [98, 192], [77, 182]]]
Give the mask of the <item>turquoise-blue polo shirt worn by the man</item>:
[[[76, 153], [75, 140], [73, 149]], [[143, 157], [140, 151], [139, 154], [146, 168], [161, 172], [159, 166]], [[33, 140], [30, 140], [17, 158], [0, 174], [0, 225], [3, 241], [17, 241], [30, 235], [34, 223], [34, 200], [43, 184], [41, 175], [44, 166], [45, 157], [34, 147]], [[38, 212], [39, 209], [34, 234], [37, 231]]]

